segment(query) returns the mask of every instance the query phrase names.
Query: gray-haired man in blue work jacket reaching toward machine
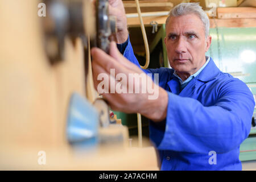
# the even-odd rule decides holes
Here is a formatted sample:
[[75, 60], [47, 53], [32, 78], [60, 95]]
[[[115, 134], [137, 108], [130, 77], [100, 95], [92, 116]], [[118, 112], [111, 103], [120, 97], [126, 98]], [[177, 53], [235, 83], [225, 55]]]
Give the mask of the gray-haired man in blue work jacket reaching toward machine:
[[[122, 2], [110, 4], [119, 25], [122, 22], [119, 51], [131, 63], [114, 43], [110, 56], [92, 49], [96, 88], [97, 75], [110, 76], [111, 68], [125, 75], [142, 73], [130, 44]], [[162, 170], [242, 169], [240, 144], [250, 133], [254, 98], [246, 84], [221, 72], [205, 56], [210, 43], [208, 16], [196, 3], [181, 3], [166, 20], [165, 44], [173, 69], [144, 70], [159, 75], [159, 87], [154, 85], [159, 97], [148, 100], [150, 93], [103, 94], [113, 109], [138, 112], [150, 119], [150, 139], [158, 148]]]

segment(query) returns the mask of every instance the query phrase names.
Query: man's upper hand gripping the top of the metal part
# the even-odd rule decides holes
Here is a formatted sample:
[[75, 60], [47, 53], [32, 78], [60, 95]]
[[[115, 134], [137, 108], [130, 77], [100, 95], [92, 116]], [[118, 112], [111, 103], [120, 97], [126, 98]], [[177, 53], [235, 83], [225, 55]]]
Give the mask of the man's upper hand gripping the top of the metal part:
[[121, 0], [109, 0], [109, 15], [117, 18], [117, 43], [124, 43], [128, 38], [127, 18]]

